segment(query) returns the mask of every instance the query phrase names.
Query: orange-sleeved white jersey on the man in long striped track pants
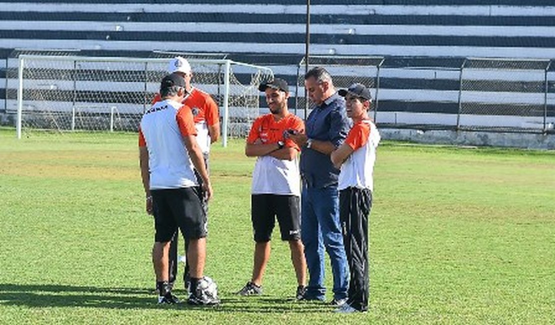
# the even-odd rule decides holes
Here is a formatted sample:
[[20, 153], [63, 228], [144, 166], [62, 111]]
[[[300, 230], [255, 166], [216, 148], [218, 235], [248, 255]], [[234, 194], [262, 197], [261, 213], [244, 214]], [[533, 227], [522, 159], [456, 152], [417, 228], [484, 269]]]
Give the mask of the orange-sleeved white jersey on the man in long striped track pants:
[[360, 121], [352, 127], [345, 144], [354, 151], [341, 165], [339, 190], [347, 187], [374, 190], [374, 163], [380, 139], [376, 125], [370, 120]]

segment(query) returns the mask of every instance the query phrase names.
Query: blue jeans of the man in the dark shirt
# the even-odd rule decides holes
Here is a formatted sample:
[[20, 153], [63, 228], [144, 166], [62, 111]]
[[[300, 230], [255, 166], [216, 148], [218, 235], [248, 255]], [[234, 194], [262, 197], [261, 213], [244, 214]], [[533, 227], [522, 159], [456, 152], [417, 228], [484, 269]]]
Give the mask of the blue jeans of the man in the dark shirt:
[[349, 268], [339, 221], [339, 191], [336, 186], [322, 189], [302, 187], [301, 238], [305, 245], [309, 285], [306, 298], [324, 300], [324, 247], [334, 275], [334, 298], [347, 297]]

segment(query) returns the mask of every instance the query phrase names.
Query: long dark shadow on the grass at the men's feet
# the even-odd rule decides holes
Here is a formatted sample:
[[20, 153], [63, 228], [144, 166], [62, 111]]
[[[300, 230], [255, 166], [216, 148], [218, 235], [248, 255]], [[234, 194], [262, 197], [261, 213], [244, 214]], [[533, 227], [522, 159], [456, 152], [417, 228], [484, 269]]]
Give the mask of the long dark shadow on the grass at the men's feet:
[[[176, 292], [185, 298], [184, 292]], [[293, 298], [221, 297], [214, 307], [158, 305], [152, 289], [99, 288], [69, 285], [18, 285], [0, 283], [0, 306], [23, 307], [91, 307], [112, 309], [191, 309], [213, 312], [284, 313], [326, 312], [329, 306], [314, 302], [297, 302]]]

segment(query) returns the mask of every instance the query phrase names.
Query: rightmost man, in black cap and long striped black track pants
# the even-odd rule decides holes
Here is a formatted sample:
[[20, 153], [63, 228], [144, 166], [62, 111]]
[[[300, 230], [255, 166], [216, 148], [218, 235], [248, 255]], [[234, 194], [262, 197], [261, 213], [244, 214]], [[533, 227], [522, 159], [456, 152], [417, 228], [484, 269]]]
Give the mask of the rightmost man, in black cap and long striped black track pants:
[[380, 133], [368, 115], [372, 101], [368, 88], [353, 84], [338, 93], [345, 97], [347, 116], [354, 126], [345, 143], [331, 153], [334, 166], [341, 168], [339, 215], [351, 273], [349, 299], [337, 311], [365, 312], [369, 298], [368, 216], [372, 207], [372, 174]]

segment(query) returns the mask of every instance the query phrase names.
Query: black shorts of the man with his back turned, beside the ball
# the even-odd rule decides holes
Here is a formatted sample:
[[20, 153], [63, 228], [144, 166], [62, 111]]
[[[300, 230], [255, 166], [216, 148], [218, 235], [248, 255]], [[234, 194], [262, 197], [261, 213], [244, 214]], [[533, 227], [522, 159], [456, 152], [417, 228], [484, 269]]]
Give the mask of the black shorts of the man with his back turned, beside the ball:
[[168, 242], [179, 227], [185, 238], [206, 237], [206, 214], [200, 199], [200, 187], [152, 190], [154, 227], [157, 242]]

